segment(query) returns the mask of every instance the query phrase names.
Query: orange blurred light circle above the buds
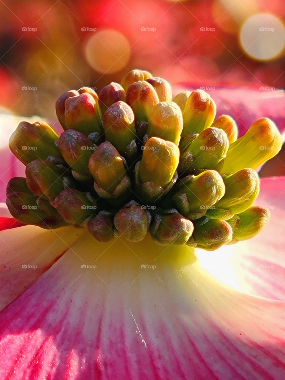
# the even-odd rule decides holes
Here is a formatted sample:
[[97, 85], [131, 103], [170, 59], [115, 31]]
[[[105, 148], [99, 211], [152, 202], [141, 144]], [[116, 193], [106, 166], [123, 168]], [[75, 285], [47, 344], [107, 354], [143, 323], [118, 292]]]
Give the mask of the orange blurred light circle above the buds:
[[85, 57], [89, 65], [104, 74], [122, 70], [127, 65], [130, 54], [127, 38], [112, 29], [95, 32], [85, 46]]

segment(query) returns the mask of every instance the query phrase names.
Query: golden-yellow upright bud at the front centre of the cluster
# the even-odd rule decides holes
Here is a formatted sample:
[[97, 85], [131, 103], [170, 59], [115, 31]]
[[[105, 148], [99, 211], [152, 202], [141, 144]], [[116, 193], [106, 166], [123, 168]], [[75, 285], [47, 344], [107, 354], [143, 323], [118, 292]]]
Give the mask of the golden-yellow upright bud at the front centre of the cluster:
[[164, 187], [174, 176], [179, 163], [179, 148], [158, 137], [147, 140], [139, 165], [140, 182], [153, 182]]

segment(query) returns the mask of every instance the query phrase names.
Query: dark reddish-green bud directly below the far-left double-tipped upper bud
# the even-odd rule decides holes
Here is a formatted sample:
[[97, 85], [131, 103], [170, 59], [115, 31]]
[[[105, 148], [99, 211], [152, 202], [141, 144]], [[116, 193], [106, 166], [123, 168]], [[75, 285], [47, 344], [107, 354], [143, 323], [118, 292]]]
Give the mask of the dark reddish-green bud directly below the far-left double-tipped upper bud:
[[53, 201], [63, 190], [64, 169], [43, 160], [34, 160], [26, 166], [28, 188], [37, 196]]

